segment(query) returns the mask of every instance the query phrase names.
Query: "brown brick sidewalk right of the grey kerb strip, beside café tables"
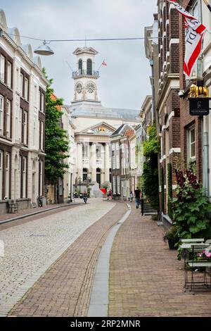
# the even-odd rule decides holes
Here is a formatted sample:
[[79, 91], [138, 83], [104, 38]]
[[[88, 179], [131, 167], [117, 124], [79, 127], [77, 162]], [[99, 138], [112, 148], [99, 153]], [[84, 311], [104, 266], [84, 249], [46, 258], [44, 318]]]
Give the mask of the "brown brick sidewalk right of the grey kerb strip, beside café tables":
[[133, 211], [110, 258], [109, 316], [211, 316], [211, 293], [184, 293], [184, 261], [162, 240], [163, 229]]

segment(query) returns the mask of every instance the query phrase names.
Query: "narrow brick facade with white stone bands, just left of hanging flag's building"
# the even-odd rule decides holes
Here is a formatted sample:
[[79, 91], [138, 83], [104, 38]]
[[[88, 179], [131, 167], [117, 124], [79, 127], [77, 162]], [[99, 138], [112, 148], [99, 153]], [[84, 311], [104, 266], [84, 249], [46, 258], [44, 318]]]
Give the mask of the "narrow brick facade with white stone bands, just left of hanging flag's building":
[[[174, 165], [180, 156], [179, 104], [179, 14], [167, 0], [158, 1], [158, 135], [160, 136], [160, 210], [170, 221], [168, 202], [172, 194], [169, 180], [175, 180]], [[156, 70], [156, 68], [155, 68]], [[170, 164], [170, 165], [168, 165]], [[174, 189], [174, 185], [173, 185]]]

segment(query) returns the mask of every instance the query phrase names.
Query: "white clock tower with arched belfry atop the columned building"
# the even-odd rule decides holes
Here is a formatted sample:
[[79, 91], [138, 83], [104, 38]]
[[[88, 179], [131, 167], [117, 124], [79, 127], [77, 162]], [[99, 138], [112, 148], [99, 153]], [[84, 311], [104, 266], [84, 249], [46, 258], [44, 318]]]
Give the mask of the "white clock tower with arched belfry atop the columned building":
[[94, 60], [98, 51], [92, 47], [78, 47], [73, 54], [77, 57], [77, 70], [72, 73], [72, 78], [75, 80], [73, 103], [98, 101], [96, 80], [99, 77], [99, 72], [94, 68]]

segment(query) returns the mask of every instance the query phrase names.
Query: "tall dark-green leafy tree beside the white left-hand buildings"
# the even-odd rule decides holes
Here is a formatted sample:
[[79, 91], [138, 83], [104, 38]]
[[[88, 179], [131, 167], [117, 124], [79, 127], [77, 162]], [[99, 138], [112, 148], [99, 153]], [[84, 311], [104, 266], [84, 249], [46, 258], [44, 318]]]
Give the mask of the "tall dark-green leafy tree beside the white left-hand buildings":
[[[46, 76], [46, 70], [43, 69]], [[47, 76], [46, 76], [47, 78]], [[63, 99], [53, 98], [53, 80], [49, 80], [50, 85], [46, 88], [46, 128], [45, 128], [45, 176], [46, 181], [54, 184], [58, 178], [63, 178], [68, 164], [64, 163], [68, 158], [68, 137], [67, 132], [60, 126], [60, 120], [63, 115], [60, 110], [63, 105]]]

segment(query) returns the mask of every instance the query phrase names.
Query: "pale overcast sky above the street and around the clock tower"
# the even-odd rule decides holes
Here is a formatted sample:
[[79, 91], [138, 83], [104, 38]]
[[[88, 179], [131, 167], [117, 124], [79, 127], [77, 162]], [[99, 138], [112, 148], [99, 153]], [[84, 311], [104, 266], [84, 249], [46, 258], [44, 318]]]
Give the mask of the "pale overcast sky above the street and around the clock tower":
[[[20, 35], [40, 39], [84, 39], [143, 37], [144, 27], [153, 24], [157, 0], [1, 0], [8, 27], [18, 27]], [[35, 49], [39, 42], [21, 38]], [[72, 54], [84, 42], [52, 42], [53, 56], [41, 56], [56, 95], [65, 104], [73, 99], [74, 81], [68, 63], [75, 70]], [[145, 57], [144, 41], [87, 42], [99, 54], [101, 67], [98, 94], [103, 106], [141, 108], [151, 94], [151, 67]]]

